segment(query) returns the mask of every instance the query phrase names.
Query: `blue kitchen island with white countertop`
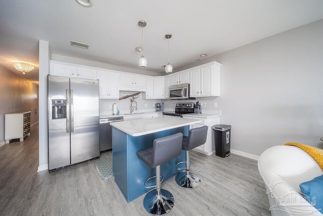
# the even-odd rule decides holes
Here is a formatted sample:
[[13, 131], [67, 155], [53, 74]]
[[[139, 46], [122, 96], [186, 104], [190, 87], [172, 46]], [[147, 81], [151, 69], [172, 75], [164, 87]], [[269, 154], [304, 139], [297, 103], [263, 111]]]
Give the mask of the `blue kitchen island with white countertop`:
[[[163, 116], [111, 123], [113, 173], [127, 202], [151, 190], [144, 188], [143, 184], [149, 177], [155, 176], [155, 169], [143, 163], [137, 157], [137, 151], [152, 147], [153, 140], [159, 137], [178, 132], [188, 136], [189, 125], [199, 122], [201, 121]], [[176, 169], [176, 164], [185, 160], [185, 151], [182, 150], [178, 157], [162, 164], [160, 175], [164, 177], [163, 182], [180, 172]]]

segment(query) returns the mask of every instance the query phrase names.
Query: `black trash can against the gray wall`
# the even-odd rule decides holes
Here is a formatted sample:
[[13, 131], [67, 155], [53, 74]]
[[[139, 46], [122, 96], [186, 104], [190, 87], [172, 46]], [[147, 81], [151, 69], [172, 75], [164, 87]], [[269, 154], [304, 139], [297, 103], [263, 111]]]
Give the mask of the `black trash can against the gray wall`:
[[226, 157], [230, 155], [231, 125], [214, 125], [214, 144], [216, 155]]

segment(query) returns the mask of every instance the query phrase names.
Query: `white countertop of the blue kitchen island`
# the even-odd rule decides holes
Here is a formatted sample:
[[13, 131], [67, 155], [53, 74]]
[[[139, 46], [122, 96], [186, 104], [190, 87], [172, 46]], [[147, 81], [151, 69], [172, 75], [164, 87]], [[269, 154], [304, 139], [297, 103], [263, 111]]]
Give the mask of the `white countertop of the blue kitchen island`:
[[149, 119], [136, 119], [110, 123], [113, 127], [131, 135], [142, 136], [159, 131], [200, 123], [200, 120], [162, 116]]

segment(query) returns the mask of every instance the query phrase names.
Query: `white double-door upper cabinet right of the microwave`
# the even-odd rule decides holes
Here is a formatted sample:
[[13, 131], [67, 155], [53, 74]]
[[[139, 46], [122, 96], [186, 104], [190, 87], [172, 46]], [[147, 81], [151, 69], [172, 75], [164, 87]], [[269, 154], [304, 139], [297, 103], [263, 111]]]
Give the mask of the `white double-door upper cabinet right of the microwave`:
[[211, 62], [189, 69], [190, 96], [220, 96], [220, 63]]

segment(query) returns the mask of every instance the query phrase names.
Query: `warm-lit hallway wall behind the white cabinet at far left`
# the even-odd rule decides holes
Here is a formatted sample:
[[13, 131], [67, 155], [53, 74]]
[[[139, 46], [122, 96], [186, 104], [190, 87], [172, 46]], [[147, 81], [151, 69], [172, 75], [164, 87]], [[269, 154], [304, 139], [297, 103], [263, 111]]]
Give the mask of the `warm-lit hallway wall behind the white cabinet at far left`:
[[[0, 145], [5, 140], [5, 114], [31, 111], [38, 122], [38, 86], [0, 65]], [[35, 114], [37, 109], [37, 115]]]

